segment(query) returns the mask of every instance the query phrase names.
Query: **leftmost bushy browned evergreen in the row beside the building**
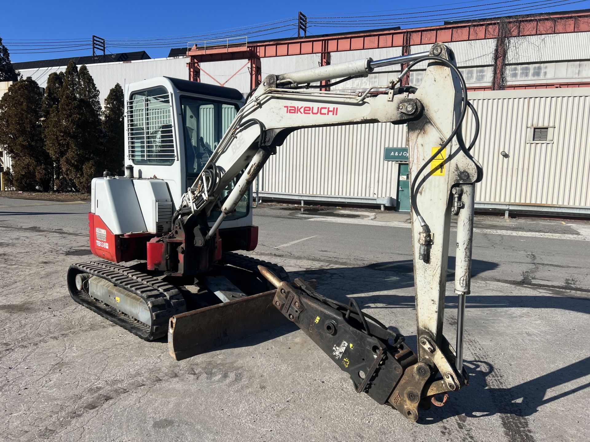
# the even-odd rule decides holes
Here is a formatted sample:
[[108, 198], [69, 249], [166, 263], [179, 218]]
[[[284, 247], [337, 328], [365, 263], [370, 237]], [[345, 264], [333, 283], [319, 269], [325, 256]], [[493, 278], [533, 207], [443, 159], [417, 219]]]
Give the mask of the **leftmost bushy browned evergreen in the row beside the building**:
[[52, 162], [41, 136], [42, 94], [31, 77], [19, 80], [0, 99], [0, 144], [12, 159], [17, 190], [50, 189]]

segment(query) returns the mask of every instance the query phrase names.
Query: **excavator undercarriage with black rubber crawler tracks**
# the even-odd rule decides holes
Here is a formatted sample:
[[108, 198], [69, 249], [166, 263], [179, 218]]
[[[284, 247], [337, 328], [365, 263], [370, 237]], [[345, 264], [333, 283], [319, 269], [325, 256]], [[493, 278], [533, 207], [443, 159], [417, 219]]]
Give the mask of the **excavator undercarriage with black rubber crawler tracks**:
[[230, 252], [211, 272], [199, 278], [156, 277], [142, 269], [142, 265], [127, 267], [97, 260], [70, 266], [67, 282], [70, 295], [78, 304], [146, 341], [153, 341], [168, 334], [172, 316], [240, 299], [247, 301], [268, 291], [272, 286], [260, 275], [258, 265], [271, 266], [287, 279], [281, 266]]

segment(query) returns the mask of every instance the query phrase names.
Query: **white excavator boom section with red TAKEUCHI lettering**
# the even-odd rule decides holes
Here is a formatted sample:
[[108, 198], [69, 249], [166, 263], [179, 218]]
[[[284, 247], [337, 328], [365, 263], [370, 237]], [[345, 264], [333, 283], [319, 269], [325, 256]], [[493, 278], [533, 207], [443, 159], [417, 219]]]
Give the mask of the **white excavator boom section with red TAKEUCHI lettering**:
[[[369, 60], [356, 62], [366, 66], [365, 76], [371, 71]], [[345, 68], [348, 66], [335, 75], [354, 72]], [[324, 77], [310, 72], [305, 78], [310, 82]], [[209, 230], [209, 237], [222, 220], [234, 212], [268, 157], [276, 153], [277, 147], [294, 130], [343, 124], [404, 124], [417, 120], [422, 114], [418, 100], [402, 93], [394, 95], [394, 92], [402, 91], [394, 87], [390, 89], [392, 94], [370, 94], [371, 91], [368, 91], [359, 97], [355, 93], [310, 90], [297, 83], [290, 83], [291, 87], [280, 87], [280, 81], [277, 75], [268, 75], [264, 79], [261, 87], [241, 108], [219, 141], [217, 150], [183, 197], [181, 213], [190, 210], [192, 213], [209, 214], [217, 206], [219, 196], [228, 184], [242, 170], [245, 171], [222, 204], [222, 214]]]

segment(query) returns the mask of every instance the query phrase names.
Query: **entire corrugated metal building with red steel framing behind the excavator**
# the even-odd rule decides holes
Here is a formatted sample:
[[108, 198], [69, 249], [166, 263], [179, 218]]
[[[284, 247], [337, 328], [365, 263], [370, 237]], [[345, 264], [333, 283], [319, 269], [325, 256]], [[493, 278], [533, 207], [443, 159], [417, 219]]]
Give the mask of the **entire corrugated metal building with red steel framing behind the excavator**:
[[[549, 204], [582, 207], [590, 213], [589, 174], [584, 173], [590, 169], [590, 11], [244, 41], [222, 47], [205, 42], [186, 51], [187, 57], [88, 67], [101, 100], [114, 83], [158, 75], [225, 85], [246, 94], [267, 74], [366, 57], [396, 57], [428, 50], [436, 41], [455, 52], [470, 100], [482, 120], [474, 151], [486, 173], [477, 191], [480, 207]], [[51, 72], [64, 68], [21, 73], [43, 86]], [[412, 71], [408, 83], [419, 85], [424, 68]], [[389, 77], [371, 75], [332, 90], [363, 91], [385, 84]], [[545, 130], [552, 139], [533, 143], [529, 138], [535, 128]], [[266, 196], [295, 200], [376, 203], [379, 197], [392, 197], [404, 209], [408, 207], [402, 185], [407, 165], [383, 160], [385, 147], [402, 146], [405, 128], [391, 124], [297, 131], [269, 160], [260, 189]]]

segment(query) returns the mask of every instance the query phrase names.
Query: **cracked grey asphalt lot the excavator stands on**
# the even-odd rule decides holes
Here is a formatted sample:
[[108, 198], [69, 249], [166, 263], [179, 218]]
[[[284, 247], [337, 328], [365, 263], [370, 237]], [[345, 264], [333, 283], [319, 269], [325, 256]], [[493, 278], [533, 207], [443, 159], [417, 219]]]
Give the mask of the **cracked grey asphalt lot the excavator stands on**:
[[[470, 385], [411, 424], [291, 325], [176, 362], [74, 304], [90, 204], [0, 198], [2, 440], [585, 441], [590, 222], [476, 216]], [[252, 256], [354, 297], [415, 348], [409, 215], [263, 204]], [[453, 236], [454, 233], [451, 234]], [[453, 238], [451, 238], [451, 242]], [[453, 248], [451, 248], [453, 250]], [[445, 334], [457, 297], [449, 258]]]

